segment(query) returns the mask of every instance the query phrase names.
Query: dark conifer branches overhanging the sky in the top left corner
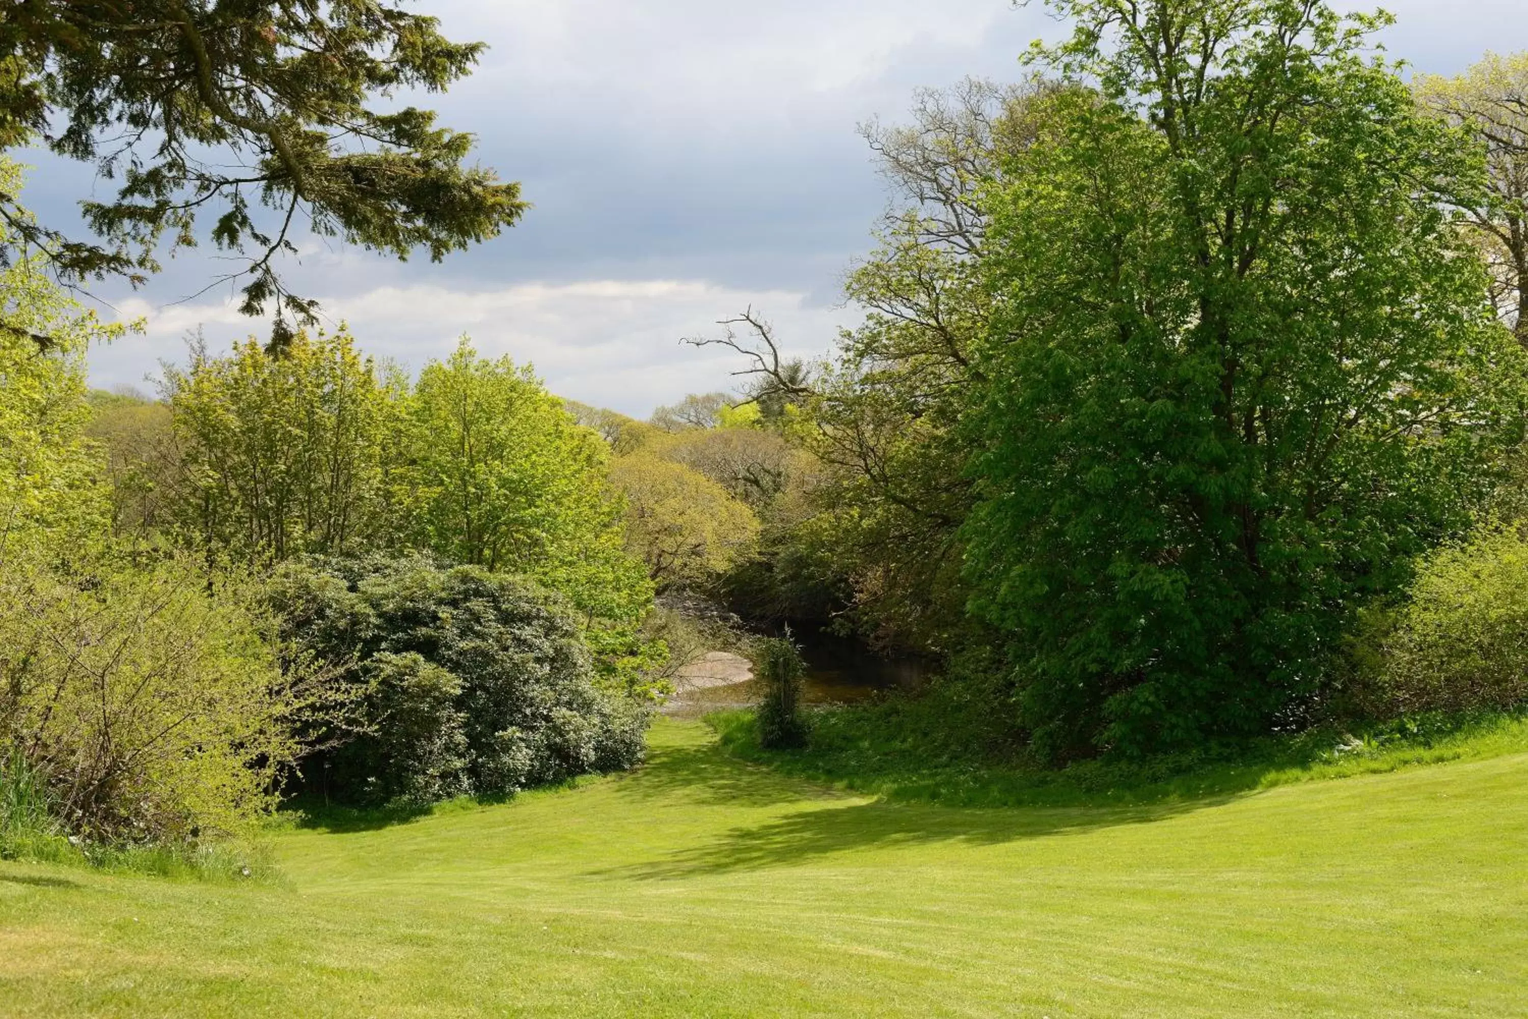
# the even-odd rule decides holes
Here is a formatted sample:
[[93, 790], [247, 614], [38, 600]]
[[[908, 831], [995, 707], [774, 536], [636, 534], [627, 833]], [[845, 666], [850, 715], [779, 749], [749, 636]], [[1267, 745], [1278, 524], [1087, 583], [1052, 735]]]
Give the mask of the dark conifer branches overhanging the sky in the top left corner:
[[[246, 257], [243, 310], [310, 322], [275, 260], [307, 225], [367, 249], [435, 260], [497, 235], [520, 186], [469, 167], [469, 134], [400, 90], [440, 92], [480, 43], [382, 0], [21, 0], [0, 15], [0, 147], [43, 144], [116, 182], [83, 203], [98, 235], [66, 237], [0, 191], [0, 254], [43, 249], [67, 283], [141, 283], [156, 252], [211, 237]], [[264, 208], [264, 214], [261, 209]]]

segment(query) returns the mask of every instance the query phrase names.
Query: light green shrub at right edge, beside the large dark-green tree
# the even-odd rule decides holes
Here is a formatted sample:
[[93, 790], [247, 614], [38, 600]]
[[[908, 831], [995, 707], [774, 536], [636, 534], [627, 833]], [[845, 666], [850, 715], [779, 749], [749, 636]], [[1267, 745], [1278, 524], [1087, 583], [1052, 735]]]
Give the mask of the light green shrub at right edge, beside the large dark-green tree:
[[1418, 568], [1410, 600], [1371, 620], [1361, 710], [1507, 709], [1528, 701], [1528, 538], [1487, 529]]

